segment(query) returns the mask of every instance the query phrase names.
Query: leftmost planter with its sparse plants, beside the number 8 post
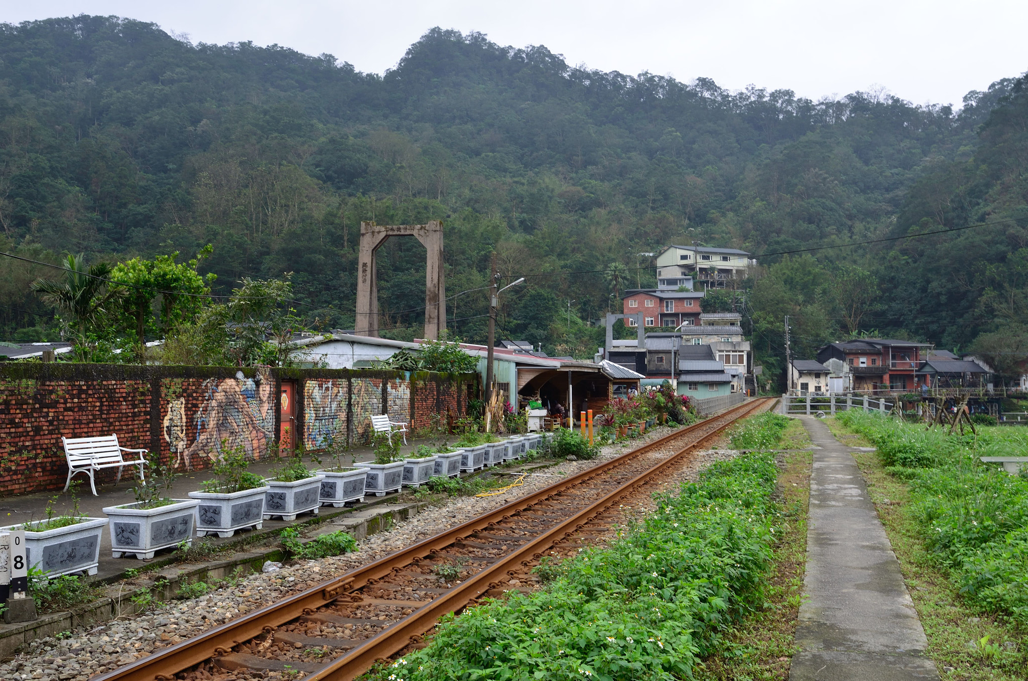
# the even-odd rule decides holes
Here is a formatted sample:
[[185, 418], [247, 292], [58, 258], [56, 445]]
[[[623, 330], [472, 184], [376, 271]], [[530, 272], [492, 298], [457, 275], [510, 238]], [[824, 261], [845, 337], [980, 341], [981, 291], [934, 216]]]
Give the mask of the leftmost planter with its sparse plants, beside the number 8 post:
[[97, 574], [100, 563], [100, 537], [106, 517], [86, 517], [78, 509], [78, 482], [72, 483], [72, 509], [54, 515], [53, 497], [46, 505], [46, 519], [9, 525], [2, 530], [25, 530], [25, 558], [28, 568], [36, 568], [45, 577], [71, 573]]

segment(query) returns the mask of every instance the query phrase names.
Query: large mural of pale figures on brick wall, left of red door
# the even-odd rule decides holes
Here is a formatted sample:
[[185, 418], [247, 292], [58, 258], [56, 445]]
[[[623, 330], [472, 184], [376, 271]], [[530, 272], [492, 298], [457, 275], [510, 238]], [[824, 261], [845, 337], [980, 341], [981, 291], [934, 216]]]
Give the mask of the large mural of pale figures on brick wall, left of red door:
[[274, 381], [270, 374], [259, 371], [256, 379], [248, 379], [240, 371], [234, 379], [208, 379], [201, 393], [203, 402], [190, 428], [196, 439], [183, 455], [186, 461], [194, 455], [216, 460], [222, 447], [240, 445], [248, 459], [260, 459], [273, 439]]

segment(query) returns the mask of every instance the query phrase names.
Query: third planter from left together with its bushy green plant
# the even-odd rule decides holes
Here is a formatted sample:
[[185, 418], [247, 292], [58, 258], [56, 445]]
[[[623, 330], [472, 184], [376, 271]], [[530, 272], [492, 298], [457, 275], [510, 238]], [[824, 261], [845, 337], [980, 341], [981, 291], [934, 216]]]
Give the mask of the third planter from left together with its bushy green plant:
[[243, 444], [231, 450], [221, 441], [222, 456], [211, 472], [214, 478], [204, 480], [198, 492], [190, 492], [190, 499], [198, 499], [196, 506], [196, 536], [217, 534], [231, 537], [236, 530], [260, 530], [264, 521], [264, 493], [268, 491], [264, 478], [247, 471]]

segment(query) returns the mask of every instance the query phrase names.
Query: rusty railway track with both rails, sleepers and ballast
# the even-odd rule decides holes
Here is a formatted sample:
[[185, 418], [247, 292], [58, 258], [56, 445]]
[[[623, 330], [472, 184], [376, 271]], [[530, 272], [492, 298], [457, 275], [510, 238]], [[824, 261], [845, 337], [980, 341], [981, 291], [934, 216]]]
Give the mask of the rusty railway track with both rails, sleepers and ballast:
[[[767, 406], [745, 402], [563, 478], [374, 563], [90, 681], [208, 681], [281, 673], [348, 681], [411, 646], [445, 614], [525, 590], [544, 553], [602, 536], [619, 503], [688, 453]], [[661, 476], [664, 477], [661, 477]]]

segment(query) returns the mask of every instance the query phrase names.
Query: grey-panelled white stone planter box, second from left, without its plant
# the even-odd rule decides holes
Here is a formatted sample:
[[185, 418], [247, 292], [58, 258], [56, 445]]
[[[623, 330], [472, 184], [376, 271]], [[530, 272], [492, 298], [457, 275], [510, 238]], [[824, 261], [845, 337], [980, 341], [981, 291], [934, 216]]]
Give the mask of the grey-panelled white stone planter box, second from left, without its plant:
[[111, 528], [111, 557], [135, 555], [150, 560], [154, 551], [192, 544], [198, 499], [173, 499], [174, 504], [139, 508], [139, 503], [108, 506]]

